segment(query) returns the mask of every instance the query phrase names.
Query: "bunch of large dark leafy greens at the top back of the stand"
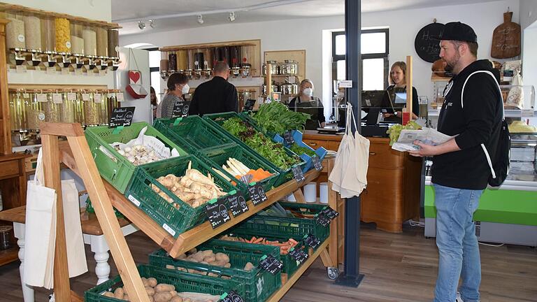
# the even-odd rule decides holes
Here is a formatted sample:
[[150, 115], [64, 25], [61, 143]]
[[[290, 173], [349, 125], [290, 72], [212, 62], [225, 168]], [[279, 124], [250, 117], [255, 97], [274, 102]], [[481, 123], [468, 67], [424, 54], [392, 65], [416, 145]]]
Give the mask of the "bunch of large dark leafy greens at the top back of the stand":
[[250, 115], [262, 131], [280, 135], [288, 130], [304, 129], [304, 124], [310, 118], [307, 113], [291, 111], [276, 101], [262, 104], [256, 113]]

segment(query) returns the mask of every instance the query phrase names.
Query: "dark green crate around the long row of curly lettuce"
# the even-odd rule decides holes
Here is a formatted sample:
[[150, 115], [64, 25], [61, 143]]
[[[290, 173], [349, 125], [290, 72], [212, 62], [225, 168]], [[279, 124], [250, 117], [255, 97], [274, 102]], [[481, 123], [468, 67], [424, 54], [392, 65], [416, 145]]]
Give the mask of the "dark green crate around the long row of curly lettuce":
[[[266, 161], [268, 164], [271, 164], [271, 166], [276, 170], [278, 171], [278, 173], [280, 173], [280, 176], [278, 177], [278, 179], [275, 180], [275, 187], [279, 186], [279, 185], [282, 185], [282, 183], [284, 182], [287, 182], [289, 180], [291, 180], [293, 178], [293, 173], [291, 171], [291, 168], [287, 168], [287, 169], [282, 169], [282, 168], [279, 168], [278, 166], [275, 166], [275, 164], [273, 164], [271, 161], [268, 161], [268, 159], [262, 157], [261, 154], [259, 154], [258, 152], [256, 152], [255, 150], [253, 150], [252, 148], [250, 148], [250, 146], [246, 145], [243, 141], [241, 141], [240, 138], [237, 138], [231, 134], [229, 134], [229, 132], [227, 132], [224, 128], [222, 128], [222, 124], [224, 123], [225, 120], [228, 120], [230, 119], [231, 117], [238, 117], [240, 118], [241, 120], [243, 120], [243, 122], [247, 122], [248, 124], [250, 124], [250, 122], [248, 122], [248, 120], [245, 119], [245, 117], [239, 115], [238, 113], [236, 112], [229, 112], [229, 113], [213, 113], [213, 114], [208, 114], [208, 115], [203, 115], [203, 118], [208, 120], [210, 123], [213, 123], [213, 125], [215, 127], [218, 127], [218, 129], [221, 129], [222, 132], [224, 132], [225, 134], [227, 134], [231, 139], [233, 139], [236, 143], [238, 143], [239, 145], [243, 146], [243, 148], [246, 148], [248, 151], [250, 152], [253, 152], [255, 154], [257, 154], [258, 157], [264, 159], [264, 161]], [[259, 129], [257, 129], [257, 127], [255, 127], [255, 125], [252, 125], [252, 127], [254, 127], [254, 129], [256, 129], [257, 131], [259, 131]], [[259, 131], [261, 132], [261, 131]], [[262, 133], [262, 132], [261, 132]], [[269, 138], [269, 139], [272, 139], [272, 138]], [[294, 157], [296, 158], [297, 160], [299, 160], [299, 164], [296, 164], [296, 166], [299, 166], [302, 170], [303, 166], [306, 165], [306, 161], [303, 161], [303, 159], [301, 159], [298, 155], [296, 155], [294, 152], [292, 152], [291, 150], [289, 150], [289, 148], [286, 148], [286, 147], [283, 147], [283, 149], [285, 150], [285, 153], [287, 155], [289, 155], [290, 157]]]

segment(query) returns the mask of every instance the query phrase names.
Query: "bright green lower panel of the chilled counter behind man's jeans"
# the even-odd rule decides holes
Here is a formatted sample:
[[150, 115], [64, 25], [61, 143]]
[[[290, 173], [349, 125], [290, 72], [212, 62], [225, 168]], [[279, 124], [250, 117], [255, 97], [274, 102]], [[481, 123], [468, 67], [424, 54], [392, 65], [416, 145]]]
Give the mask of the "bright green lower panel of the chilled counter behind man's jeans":
[[[425, 186], [425, 217], [436, 218], [433, 186]], [[537, 192], [486, 189], [475, 221], [537, 226]]]

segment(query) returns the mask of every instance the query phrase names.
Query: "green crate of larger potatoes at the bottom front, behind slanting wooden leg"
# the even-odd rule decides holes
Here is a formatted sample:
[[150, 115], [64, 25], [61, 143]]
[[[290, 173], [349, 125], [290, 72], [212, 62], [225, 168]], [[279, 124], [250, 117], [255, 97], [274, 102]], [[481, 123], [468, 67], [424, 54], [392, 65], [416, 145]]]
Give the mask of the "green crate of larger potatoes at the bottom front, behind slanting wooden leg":
[[[184, 273], [180, 271], [160, 268], [150, 265], [138, 265], [138, 273], [141, 277], [157, 279], [159, 283], [166, 283], [176, 287], [176, 292], [198, 292], [201, 294], [213, 294], [220, 296], [226, 292], [234, 290], [237, 285], [234, 280], [225, 280], [222, 278], [211, 278], [204, 275], [196, 275], [192, 273]], [[115, 290], [117, 287], [122, 287], [123, 282], [119, 275], [107, 280], [106, 282], [88, 289], [84, 292], [85, 302], [115, 302], [123, 301], [120, 299], [109, 298], [103, 296], [104, 292], [109, 289]]]

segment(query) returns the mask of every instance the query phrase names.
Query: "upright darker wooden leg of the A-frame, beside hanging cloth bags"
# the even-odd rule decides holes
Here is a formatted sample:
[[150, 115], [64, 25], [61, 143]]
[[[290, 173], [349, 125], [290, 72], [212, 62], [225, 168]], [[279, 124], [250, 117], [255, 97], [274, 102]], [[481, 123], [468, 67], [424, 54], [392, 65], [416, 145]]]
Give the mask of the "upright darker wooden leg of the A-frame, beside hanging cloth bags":
[[45, 186], [56, 190], [56, 242], [54, 251], [54, 295], [58, 301], [71, 301], [67, 247], [65, 241], [64, 204], [62, 180], [59, 176], [58, 137], [41, 135], [43, 144], [43, 175]]

